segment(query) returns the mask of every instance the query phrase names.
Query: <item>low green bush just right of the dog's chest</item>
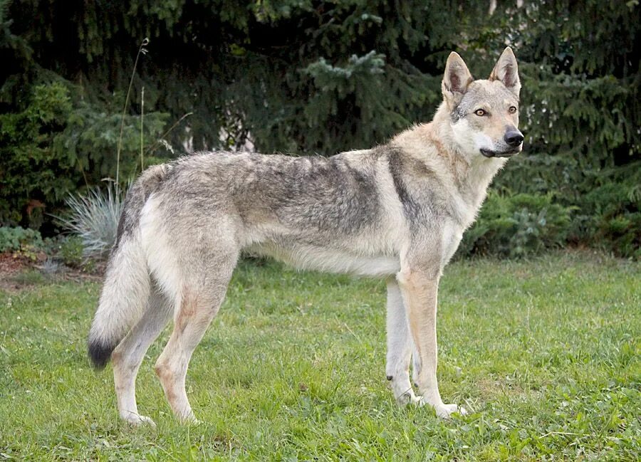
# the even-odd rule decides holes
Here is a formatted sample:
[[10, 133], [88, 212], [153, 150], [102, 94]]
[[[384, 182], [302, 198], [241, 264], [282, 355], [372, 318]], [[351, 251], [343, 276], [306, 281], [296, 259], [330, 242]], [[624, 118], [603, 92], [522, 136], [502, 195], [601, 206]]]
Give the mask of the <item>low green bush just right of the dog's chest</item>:
[[465, 234], [459, 255], [523, 257], [561, 247], [575, 208], [553, 203], [551, 194], [491, 193]]

